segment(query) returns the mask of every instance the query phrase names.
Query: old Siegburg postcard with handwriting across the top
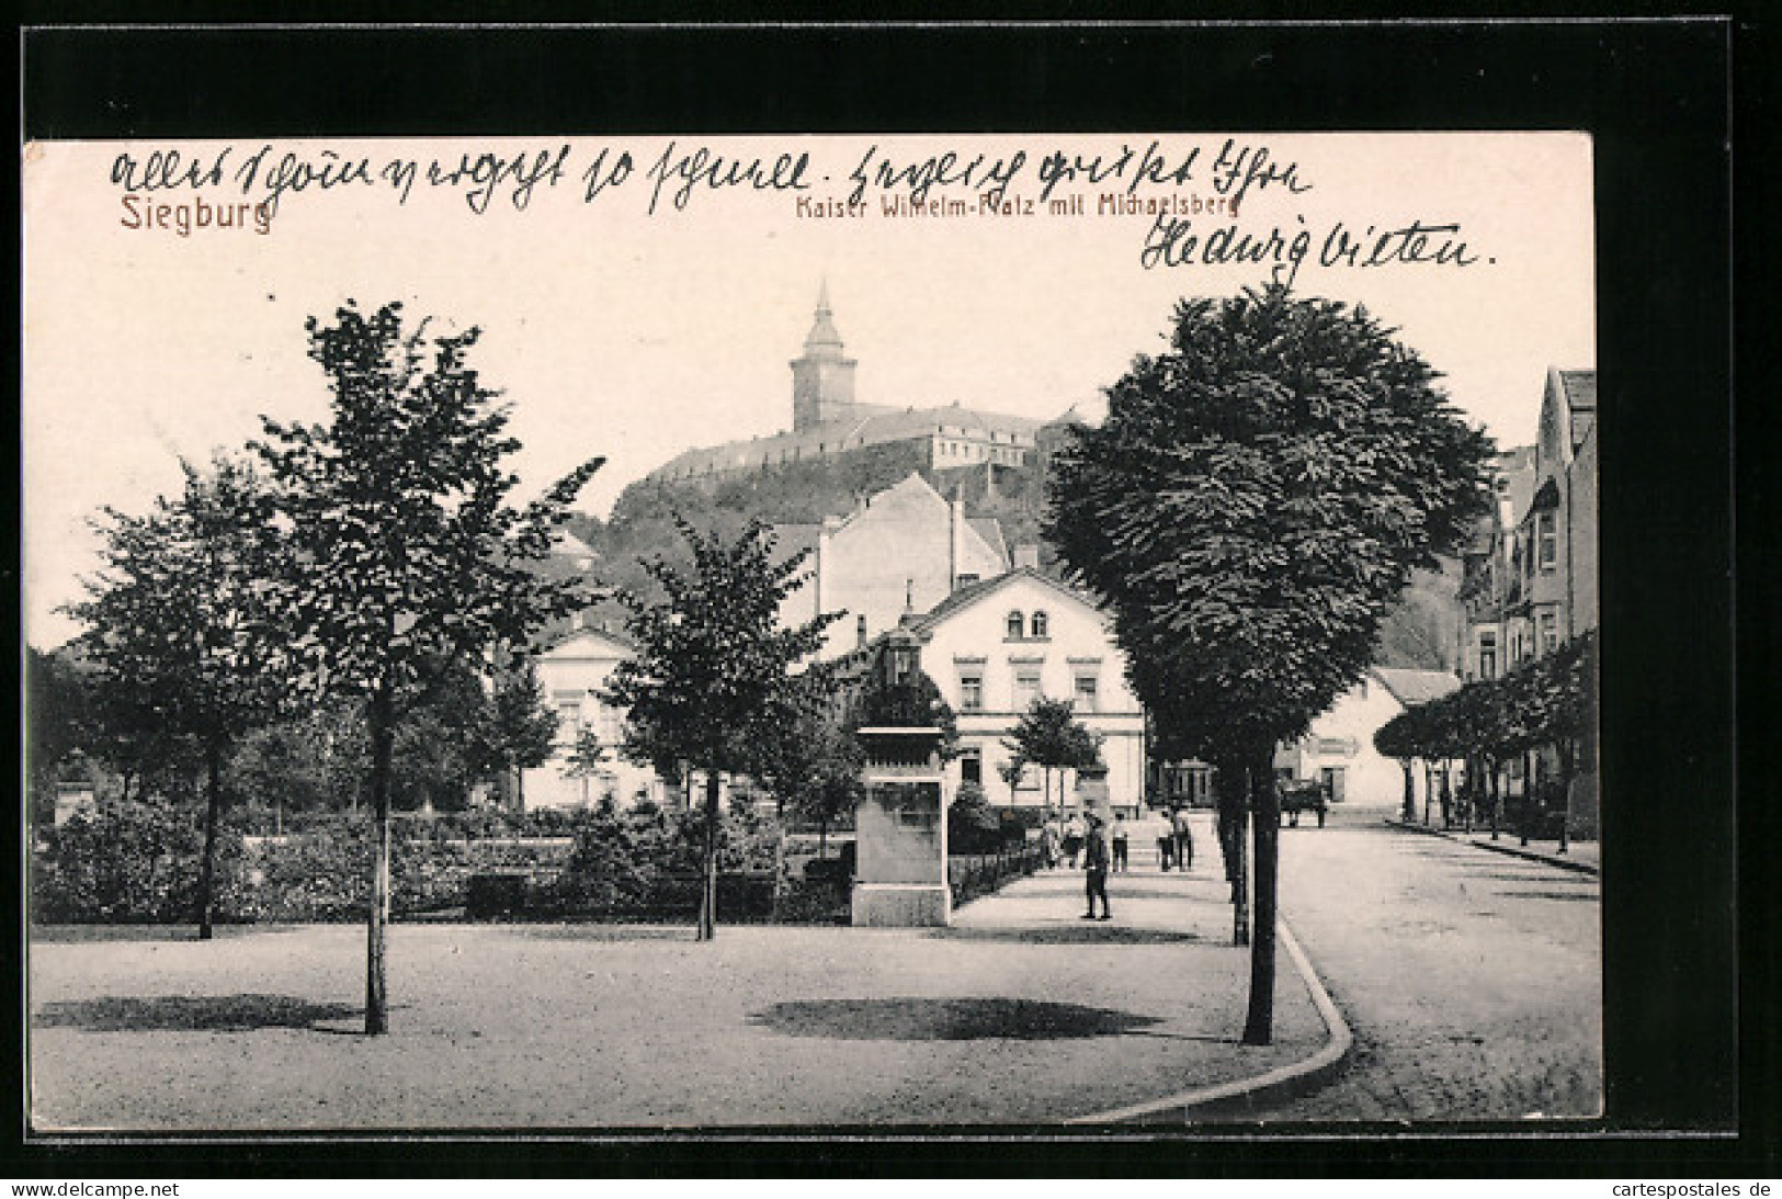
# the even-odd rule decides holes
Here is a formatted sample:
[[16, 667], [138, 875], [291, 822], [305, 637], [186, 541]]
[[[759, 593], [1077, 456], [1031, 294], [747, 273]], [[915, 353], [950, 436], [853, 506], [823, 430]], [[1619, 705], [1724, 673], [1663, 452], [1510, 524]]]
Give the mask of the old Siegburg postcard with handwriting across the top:
[[32, 1135], [1591, 1126], [1593, 212], [1575, 132], [30, 143]]

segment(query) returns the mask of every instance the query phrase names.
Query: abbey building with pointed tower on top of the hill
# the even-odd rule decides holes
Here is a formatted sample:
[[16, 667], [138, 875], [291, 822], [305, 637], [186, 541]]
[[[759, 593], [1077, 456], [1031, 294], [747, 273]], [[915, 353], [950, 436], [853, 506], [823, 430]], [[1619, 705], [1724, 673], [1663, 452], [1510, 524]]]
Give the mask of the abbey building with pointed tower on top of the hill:
[[1044, 420], [957, 403], [939, 408], [866, 404], [855, 399], [855, 365], [836, 331], [825, 285], [804, 355], [791, 362], [791, 431], [690, 449], [652, 470], [647, 481], [716, 485], [879, 445], [911, 447], [916, 451], [912, 465], [934, 470], [975, 463], [1034, 465]]

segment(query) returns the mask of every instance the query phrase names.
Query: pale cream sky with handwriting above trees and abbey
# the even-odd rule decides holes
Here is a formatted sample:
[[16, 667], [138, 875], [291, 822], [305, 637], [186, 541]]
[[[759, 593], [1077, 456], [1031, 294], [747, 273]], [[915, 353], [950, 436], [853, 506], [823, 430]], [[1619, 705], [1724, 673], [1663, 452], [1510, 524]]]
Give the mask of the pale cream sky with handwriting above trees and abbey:
[[[857, 397], [880, 404], [1092, 415], [1133, 355], [1164, 347], [1178, 299], [1230, 296], [1276, 269], [1299, 294], [1363, 303], [1397, 328], [1504, 445], [1534, 440], [1550, 365], [1597, 365], [1581, 134], [344, 139], [255, 157], [264, 146], [27, 146], [30, 645], [77, 632], [57, 609], [98, 567], [102, 506], [146, 510], [178, 490], [182, 458], [241, 447], [260, 415], [326, 417], [305, 321], [347, 299], [399, 299], [442, 331], [478, 326], [472, 363], [511, 406], [524, 490], [604, 456], [577, 504], [597, 515], [684, 449], [789, 428], [788, 363], [825, 281]], [[173, 153], [201, 185], [166, 185], [185, 178], [168, 169]], [[479, 162], [481, 175], [453, 175]], [[593, 178], [611, 182], [590, 198], [597, 162]], [[991, 212], [985, 171], [1012, 162], [1000, 200], [1014, 212]], [[941, 176], [925, 198], [964, 214], [884, 214], [923, 164]], [[855, 173], [864, 203], [850, 212]], [[241, 205], [278, 182], [258, 233]], [[1176, 212], [1098, 214], [1103, 194]], [[1051, 212], [1073, 196], [1080, 216]], [[825, 201], [841, 216], [818, 216]], [[219, 208], [237, 223], [219, 228]], [[1410, 237], [1379, 242], [1411, 223], [1458, 228], [1426, 235], [1420, 253]], [[1263, 260], [1221, 262], [1246, 235]], [[1433, 260], [1454, 241], [1465, 265]], [[1376, 248], [1381, 262], [1363, 265]]]

